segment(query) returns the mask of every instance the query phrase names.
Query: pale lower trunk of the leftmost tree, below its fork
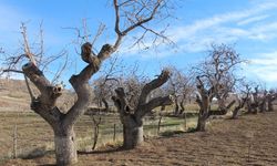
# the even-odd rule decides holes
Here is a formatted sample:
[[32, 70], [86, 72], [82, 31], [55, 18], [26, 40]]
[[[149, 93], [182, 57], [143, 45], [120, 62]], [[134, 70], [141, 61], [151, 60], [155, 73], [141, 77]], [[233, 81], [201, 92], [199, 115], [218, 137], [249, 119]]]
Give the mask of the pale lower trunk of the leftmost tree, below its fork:
[[73, 127], [62, 127], [54, 129], [57, 165], [73, 165], [78, 162], [75, 134]]

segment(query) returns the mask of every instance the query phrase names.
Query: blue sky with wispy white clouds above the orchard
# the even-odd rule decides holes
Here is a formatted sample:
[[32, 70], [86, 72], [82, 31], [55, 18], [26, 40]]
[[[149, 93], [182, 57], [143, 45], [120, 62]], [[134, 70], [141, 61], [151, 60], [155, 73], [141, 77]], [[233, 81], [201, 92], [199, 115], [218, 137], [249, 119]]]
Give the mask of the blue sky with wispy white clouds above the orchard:
[[[119, 53], [124, 63], [135, 62], [150, 75], [160, 73], [162, 66], [185, 69], [206, 56], [211, 43], [234, 44], [243, 58], [249, 60], [243, 72], [250, 80], [277, 86], [277, 1], [276, 0], [181, 0], [167, 30], [177, 44], [157, 51], [124, 49]], [[74, 31], [65, 27], [81, 27], [88, 19], [91, 32], [103, 22], [106, 33], [99, 44], [113, 39], [114, 15], [107, 0], [0, 0], [0, 46], [12, 50], [19, 45], [20, 22], [28, 21], [29, 37], [34, 38], [43, 20], [45, 53], [70, 50], [72, 59]], [[32, 40], [32, 39], [30, 39]], [[126, 42], [125, 42], [126, 43]], [[76, 59], [79, 61], [79, 59]], [[84, 63], [78, 63], [81, 69]], [[72, 68], [71, 68], [72, 69]], [[69, 76], [75, 71], [69, 71]], [[66, 81], [66, 80], [65, 80]]]

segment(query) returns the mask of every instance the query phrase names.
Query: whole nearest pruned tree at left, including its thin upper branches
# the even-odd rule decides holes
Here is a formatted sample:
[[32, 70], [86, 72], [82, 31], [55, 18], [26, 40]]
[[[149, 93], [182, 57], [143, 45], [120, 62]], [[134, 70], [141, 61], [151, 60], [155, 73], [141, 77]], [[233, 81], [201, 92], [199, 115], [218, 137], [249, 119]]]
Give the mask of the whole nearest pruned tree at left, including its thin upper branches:
[[[153, 20], [161, 21], [161, 19], [167, 17], [168, 0], [113, 0], [113, 7], [115, 14], [114, 31], [116, 34], [113, 44], [102, 44], [100, 51], [95, 51], [95, 40], [89, 42], [89, 35], [85, 32], [82, 37], [82, 39], [85, 40], [81, 45], [81, 59], [86, 63], [86, 66], [84, 66], [79, 74], [73, 74], [69, 80], [76, 93], [76, 101], [66, 112], [62, 112], [57, 106], [57, 100], [62, 95], [62, 87], [54, 85], [48, 80], [47, 75], [44, 75], [41, 69], [43, 65], [39, 63], [39, 60], [44, 53], [37, 55], [32, 52], [33, 50], [29, 46], [24, 25], [22, 25], [23, 53], [10, 56], [8, 59], [9, 61], [7, 61], [8, 69], [4, 70], [4, 72], [23, 73], [40, 92], [40, 94], [35, 96], [30, 91], [31, 108], [44, 118], [54, 132], [57, 165], [70, 165], [78, 162], [73, 126], [92, 101], [92, 90], [89, 85], [89, 80], [100, 70], [104, 60], [119, 50], [123, 38], [130, 34], [130, 32], [141, 29], [144, 32], [136, 37], [137, 40], [135, 43], [140, 43], [146, 33], [152, 33], [156, 38], [167, 40], [164, 35], [164, 31], [155, 31], [150, 28], [151, 24], [148, 23], [153, 22]], [[156, 38], [153, 40], [154, 42]], [[43, 51], [43, 48], [41, 48], [41, 51]], [[23, 64], [22, 70], [16, 70], [19, 62], [24, 63], [25, 60], [29, 62]], [[153, 102], [148, 104], [155, 105]]]

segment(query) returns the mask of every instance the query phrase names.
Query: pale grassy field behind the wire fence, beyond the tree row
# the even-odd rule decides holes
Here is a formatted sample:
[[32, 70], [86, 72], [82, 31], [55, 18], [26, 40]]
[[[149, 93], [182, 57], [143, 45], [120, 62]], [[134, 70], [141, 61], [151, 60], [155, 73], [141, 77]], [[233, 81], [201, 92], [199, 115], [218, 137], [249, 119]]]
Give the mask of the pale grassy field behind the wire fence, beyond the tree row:
[[[98, 117], [96, 117], [98, 120]], [[145, 120], [145, 136], [157, 135], [158, 120]], [[185, 129], [183, 118], [164, 117], [161, 132]], [[32, 112], [1, 112], [0, 116], [0, 157], [13, 156], [13, 135], [17, 125], [17, 152], [20, 157], [35, 155], [45, 151], [53, 151], [53, 133], [51, 127]], [[115, 131], [114, 131], [115, 125]], [[93, 121], [83, 115], [75, 125], [79, 151], [92, 151]], [[187, 121], [187, 128], [195, 126], [195, 118]], [[114, 137], [115, 132], [115, 137]], [[98, 146], [120, 144], [122, 142], [122, 125], [116, 115], [104, 115], [100, 124]]]

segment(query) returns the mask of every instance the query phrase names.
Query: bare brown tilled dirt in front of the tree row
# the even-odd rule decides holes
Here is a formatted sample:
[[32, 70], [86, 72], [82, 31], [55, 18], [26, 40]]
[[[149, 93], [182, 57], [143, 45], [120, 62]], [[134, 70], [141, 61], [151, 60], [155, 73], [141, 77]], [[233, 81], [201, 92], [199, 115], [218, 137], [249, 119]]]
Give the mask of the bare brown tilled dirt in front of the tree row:
[[[214, 120], [205, 133], [146, 139], [133, 151], [105, 147], [79, 154], [78, 165], [277, 165], [277, 111]], [[13, 159], [6, 165], [53, 165], [54, 155]]]

